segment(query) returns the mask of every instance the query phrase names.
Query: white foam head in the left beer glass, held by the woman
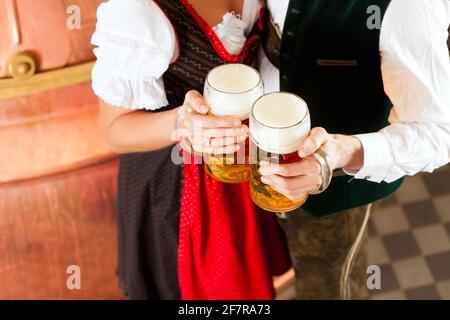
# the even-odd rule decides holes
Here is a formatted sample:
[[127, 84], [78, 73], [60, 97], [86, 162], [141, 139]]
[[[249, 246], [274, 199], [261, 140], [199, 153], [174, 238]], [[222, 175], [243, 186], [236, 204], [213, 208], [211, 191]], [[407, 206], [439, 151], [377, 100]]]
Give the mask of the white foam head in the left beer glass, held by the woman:
[[258, 71], [243, 64], [216, 67], [206, 81], [204, 97], [216, 116], [247, 119], [253, 103], [264, 93]]

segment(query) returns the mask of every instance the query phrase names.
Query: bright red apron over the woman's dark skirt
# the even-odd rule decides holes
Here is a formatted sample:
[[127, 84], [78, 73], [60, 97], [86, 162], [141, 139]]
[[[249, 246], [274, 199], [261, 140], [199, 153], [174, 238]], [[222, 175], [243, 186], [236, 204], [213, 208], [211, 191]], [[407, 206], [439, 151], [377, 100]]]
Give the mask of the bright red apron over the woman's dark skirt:
[[290, 262], [276, 217], [257, 209], [248, 183], [224, 184], [184, 165], [178, 244], [182, 299], [266, 300]]

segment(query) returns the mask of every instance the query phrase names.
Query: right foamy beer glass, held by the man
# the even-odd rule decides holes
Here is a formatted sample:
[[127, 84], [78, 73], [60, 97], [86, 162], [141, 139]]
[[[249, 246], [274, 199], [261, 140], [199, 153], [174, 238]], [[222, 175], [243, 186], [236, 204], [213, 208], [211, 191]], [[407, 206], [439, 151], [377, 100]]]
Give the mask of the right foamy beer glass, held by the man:
[[299, 208], [308, 198], [291, 200], [262, 183], [259, 163], [293, 163], [309, 135], [311, 120], [307, 104], [298, 96], [276, 92], [259, 98], [250, 115], [250, 195], [260, 208], [285, 213]]

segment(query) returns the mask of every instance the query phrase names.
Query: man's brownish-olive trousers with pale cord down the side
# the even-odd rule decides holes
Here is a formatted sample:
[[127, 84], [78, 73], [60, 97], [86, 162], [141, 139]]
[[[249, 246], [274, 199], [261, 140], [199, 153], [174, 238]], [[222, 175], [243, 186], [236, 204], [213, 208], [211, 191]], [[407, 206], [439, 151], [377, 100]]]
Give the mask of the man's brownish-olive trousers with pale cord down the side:
[[279, 217], [296, 274], [296, 299], [366, 299], [367, 224], [371, 205], [316, 218], [302, 210]]

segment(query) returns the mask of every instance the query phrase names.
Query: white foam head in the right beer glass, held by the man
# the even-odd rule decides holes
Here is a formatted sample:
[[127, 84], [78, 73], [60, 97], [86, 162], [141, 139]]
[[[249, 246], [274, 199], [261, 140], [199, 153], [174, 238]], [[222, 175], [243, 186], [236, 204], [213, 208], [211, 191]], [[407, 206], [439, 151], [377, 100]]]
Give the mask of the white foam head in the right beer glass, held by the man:
[[253, 106], [250, 134], [259, 148], [276, 154], [296, 152], [311, 130], [306, 103], [296, 95], [276, 92]]

